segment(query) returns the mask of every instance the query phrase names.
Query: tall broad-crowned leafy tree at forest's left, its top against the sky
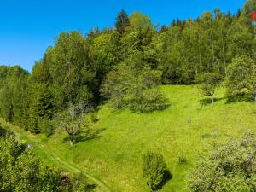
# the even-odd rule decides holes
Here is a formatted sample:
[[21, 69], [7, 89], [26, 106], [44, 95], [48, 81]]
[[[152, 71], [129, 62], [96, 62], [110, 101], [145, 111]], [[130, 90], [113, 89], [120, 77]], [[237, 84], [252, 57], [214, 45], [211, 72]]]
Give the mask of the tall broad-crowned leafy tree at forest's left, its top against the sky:
[[55, 47], [46, 53], [44, 65], [49, 65], [58, 108], [66, 108], [68, 102], [91, 98], [90, 83], [95, 72], [90, 66], [88, 47], [82, 34], [61, 32], [56, 38]]

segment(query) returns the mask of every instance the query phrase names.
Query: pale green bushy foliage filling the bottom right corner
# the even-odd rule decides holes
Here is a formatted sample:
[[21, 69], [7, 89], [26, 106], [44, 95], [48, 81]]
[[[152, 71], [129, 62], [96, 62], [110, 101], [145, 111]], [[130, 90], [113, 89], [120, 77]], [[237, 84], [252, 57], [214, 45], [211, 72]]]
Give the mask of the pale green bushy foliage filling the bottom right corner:
[[191, 191], [255, 191], [255, 143], [253, 133], [233, 139], [201, 160], [189, 174]]

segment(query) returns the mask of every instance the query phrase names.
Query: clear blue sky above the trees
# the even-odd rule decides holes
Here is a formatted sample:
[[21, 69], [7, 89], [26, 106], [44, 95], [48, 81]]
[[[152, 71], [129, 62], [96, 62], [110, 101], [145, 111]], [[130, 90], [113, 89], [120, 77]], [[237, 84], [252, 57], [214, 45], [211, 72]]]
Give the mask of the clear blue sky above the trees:
[[45, 49], [63, 31], [88, 32], [113, 26], [120, 9], [141, 11], [154, 24], [195, 18], [219, 8], [236, 13], [245, 0], [0, 0], [0, 65], [32, 70]]

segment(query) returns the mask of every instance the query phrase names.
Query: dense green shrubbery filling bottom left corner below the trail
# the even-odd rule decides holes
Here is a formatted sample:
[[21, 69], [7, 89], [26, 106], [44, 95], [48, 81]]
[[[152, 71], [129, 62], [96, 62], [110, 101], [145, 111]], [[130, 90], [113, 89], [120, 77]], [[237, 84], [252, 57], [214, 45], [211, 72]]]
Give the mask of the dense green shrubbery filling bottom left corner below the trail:
[[72, 176], [44, 166], [12, 132], [1, 127], [0, 150], [0, 191], [89, 192], [95, 188], [83, 174]]

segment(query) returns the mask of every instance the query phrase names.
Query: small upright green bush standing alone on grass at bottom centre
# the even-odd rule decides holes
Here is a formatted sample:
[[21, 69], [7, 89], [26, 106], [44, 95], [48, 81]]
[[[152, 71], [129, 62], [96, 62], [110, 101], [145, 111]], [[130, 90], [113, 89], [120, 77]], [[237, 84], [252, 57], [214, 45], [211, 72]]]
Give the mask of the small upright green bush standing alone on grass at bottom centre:
[[152, 191], [160, 189], [166, 181], [166, 162], [162, 154], [148, 152], [143, 155], [143, 177]]

